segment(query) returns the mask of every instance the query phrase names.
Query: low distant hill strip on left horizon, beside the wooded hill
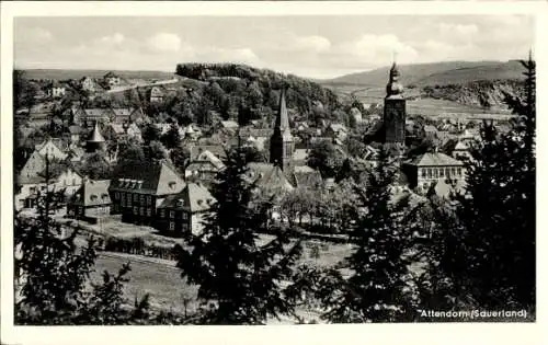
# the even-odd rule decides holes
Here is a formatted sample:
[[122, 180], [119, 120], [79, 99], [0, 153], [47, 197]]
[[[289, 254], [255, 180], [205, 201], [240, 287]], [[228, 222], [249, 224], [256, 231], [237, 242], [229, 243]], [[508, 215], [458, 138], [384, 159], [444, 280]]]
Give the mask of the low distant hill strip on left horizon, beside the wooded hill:
[[[26, 79], [50, 79], [50, 80], [68, 80], [68, 79], [80, 79], [82, 77], [91, 78], [102, 78], [104, 74], [111, 70], [87, 70], [87, 69], [22, 69], [25, 72]], [[172, 72], [162, 71], [116, 71], [113, 70], [115, 74], [118, 74], [125, 79], [171, 79], [173, 78]]]

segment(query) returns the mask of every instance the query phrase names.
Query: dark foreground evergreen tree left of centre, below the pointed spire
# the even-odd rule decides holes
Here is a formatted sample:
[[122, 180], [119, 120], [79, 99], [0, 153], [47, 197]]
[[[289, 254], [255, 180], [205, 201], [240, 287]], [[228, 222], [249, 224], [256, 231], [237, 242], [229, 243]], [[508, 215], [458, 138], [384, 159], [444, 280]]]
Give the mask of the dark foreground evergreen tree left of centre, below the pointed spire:
[[258, 243], [271, 205], [255, 202], [246, 166], [244, 152], [228, 153], [213, 187], [212, 215], [199, 234], [187, 234], [192, 249], [179, 248], [182, 277], [199, 286], [201, 323], [262, 324], [294, 311], [283, 284], [290, 280], [300, 243], [292, 244], [282, 232]]

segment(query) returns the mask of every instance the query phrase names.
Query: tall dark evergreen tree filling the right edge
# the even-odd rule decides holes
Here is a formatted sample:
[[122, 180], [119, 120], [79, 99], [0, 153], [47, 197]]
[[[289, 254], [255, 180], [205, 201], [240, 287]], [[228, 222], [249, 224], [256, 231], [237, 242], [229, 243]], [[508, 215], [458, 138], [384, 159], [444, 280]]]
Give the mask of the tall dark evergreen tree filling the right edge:
[[454, 200], [455, 223], [433, 243], [439, 279], [448, 281], [444, 294], [482, 308], [535, 304], [535, 62], [522, 64], [525, 96], [505, 99], [518, 119], [506, 134], [483, 123], [466, 193]]

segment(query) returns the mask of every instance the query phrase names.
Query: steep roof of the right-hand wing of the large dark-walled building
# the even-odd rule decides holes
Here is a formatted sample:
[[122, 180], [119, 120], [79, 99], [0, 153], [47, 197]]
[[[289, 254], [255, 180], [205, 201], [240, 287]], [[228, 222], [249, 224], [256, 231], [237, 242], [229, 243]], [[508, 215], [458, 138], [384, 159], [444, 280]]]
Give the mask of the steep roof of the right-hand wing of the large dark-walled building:
[[160, 208], [184, 209], [194, 214], [208, 210], [215, 203], [215, 197], [204, 185], [189, 183], [181, 193], [168, 196]]

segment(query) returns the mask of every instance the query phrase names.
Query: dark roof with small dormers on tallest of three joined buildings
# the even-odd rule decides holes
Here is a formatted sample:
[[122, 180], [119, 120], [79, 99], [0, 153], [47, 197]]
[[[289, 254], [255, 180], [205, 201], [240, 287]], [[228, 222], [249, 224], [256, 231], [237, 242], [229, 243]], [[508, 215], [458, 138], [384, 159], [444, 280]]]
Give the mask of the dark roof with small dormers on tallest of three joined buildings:
[[123, 162], [115, 168], [111, 182], [111, 189], [151, 195], [175, 194], [183, 187], [183, 179], [165, 161]]

